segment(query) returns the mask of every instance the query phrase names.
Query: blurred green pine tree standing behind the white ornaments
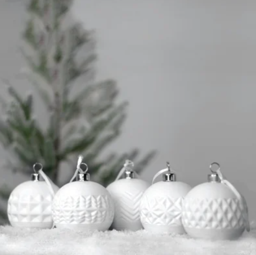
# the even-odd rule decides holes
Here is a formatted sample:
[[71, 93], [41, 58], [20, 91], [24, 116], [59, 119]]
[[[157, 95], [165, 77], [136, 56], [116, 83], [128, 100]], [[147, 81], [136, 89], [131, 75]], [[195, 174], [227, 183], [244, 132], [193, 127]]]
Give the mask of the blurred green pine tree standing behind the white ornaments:
[[[49, 121], [44, 130], [34, 118], [34, 95], [23, 98], [8, 84], [11, 101], [1, 99], [5, 117], [0, 119], [0, 141], [12, 155], [6, 167], [13, 171], [31, 174], [32, 165], [40, 162], [60, 186], [68, 182], [59, 183], [60, 165], [70, 163], [71, 176], [78, 154], [83, 154], [92, 179], [106, 186], [125, 159], [134, 161], [139, 173], [155, 152], [139, 161], [137, 149], [99, 158], [120, 135], [127, 102], [116, 103], [118, 88], [114, 80], [95, 81], [93, 32], [78, 23], [70, 25], [71, 4], [71, 0], [29, 1], [29, 19], [23, 33], [23, 54], [29, 70], [26, 77], [38, 91]], [[81, 77], [82, 90], [75, 93], [75, 85], [81, 88], [81, 82], [77, 82]], [[8, 197], [6, 189], [1, 193], [3, 198]]]

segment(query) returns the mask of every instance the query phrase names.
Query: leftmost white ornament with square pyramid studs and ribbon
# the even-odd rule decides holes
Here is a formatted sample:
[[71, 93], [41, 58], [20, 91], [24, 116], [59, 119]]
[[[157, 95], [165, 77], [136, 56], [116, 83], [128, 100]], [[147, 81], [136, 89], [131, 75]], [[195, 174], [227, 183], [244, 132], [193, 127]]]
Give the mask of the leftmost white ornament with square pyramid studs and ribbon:
[[[39, 171], [35, 167], [39, 165]], [[10, 224], [25, 228], [52, 228], [52, 201], [58, 187], [42, 171], [39, 163], [33, 166], [32, 180], [19, 184], [10, 194], [7, 214]], [[45, 181], [40, 181], [40, 175]]]

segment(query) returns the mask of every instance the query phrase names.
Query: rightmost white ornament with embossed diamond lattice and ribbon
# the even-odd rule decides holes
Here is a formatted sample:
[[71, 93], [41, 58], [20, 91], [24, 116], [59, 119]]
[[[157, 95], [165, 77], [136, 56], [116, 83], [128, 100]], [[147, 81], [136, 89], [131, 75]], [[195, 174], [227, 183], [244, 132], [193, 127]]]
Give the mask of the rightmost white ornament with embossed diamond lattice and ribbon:
[[[218, 170], [213, 171], [212, 165]], [[220, 165], [210, 165], [208, 182], [194, 187], [185, 197], [182, 223], [194, 238], [235, 239], [250, 231], [246, 200], [224, 179]]]

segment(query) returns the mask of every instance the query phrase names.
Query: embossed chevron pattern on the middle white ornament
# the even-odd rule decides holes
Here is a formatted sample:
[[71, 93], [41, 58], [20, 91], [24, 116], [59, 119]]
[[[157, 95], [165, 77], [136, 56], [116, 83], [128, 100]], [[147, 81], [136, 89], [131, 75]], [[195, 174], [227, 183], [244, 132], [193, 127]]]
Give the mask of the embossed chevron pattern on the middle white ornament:
[[140, 201], [144, 192], [122, 192], [114, 199], [115, 221], [140, 221]]

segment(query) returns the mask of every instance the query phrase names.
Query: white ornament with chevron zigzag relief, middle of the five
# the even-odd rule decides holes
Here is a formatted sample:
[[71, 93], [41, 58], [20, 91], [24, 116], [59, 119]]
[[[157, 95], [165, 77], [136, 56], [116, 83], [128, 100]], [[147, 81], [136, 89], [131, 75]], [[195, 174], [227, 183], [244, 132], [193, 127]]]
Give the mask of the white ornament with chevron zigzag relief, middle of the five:
[[[141, 179], [135, 179], [136, 174], [132, 168], [134, 164], [126, 160], [116, 180], [111, 183], [107, 190], [115, 204], [114, 220], [111, 228], [116, 230], [137, 231], [143, 226], [140, 221], [140, 201], [149, 184]], [[125, 173], [124, 179], [119, 179]]]

